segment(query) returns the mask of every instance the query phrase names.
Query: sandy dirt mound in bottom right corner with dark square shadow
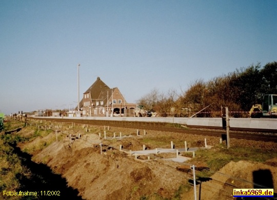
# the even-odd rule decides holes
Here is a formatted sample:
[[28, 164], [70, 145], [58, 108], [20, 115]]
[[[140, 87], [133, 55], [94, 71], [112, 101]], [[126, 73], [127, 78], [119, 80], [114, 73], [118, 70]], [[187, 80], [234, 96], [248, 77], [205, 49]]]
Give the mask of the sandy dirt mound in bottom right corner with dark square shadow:
[[[266, 163], [276, 163], [277, 158]], [[200, 187], [201, 186], [201, 187]], [[234, 188], [274, 188], [277, 190], [277, 168], [255, 162], [230, 162], [211, 176], [211, 181], [197, 186], [197, 198], [201, 199], [233, 199]], [[188, 198], [190, 196], [190, 198]], [[193, 191], [189, 191], [182, 199], [194, 199]]]

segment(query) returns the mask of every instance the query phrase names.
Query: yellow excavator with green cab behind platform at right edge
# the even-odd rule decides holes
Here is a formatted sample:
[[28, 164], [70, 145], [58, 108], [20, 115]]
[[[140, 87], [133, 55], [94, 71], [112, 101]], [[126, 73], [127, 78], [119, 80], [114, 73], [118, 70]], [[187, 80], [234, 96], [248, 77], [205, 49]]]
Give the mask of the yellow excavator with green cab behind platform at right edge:
[[265, 94], [263, 104], [255, 104], [249, 111], [249, 117], [277, 117], [277, 94]]

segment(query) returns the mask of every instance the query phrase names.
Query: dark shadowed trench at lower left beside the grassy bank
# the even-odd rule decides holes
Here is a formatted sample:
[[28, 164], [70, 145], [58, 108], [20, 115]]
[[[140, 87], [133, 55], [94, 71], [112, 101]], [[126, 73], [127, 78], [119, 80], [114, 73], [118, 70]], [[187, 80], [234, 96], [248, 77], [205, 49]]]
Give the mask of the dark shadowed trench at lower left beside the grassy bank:
[[[78, 190], [67, 186], [67, 181], [61, 175], [54, 174], [45, 164], [37, 164], [31, 160], [31, 155], [23, 152], [16, 144], [9, 143], [22, 162], [31, 172], [31, 178], [17, 174], [21, 187], [17, 191], [38, 192], [37, 199], [83, 199], [78, 196]], [[49, 194], [49, 195], [47, 195]], [[58, 195], [60, 194], [60, 195]], [[30, 196], [23, 199], [31, 199]]]

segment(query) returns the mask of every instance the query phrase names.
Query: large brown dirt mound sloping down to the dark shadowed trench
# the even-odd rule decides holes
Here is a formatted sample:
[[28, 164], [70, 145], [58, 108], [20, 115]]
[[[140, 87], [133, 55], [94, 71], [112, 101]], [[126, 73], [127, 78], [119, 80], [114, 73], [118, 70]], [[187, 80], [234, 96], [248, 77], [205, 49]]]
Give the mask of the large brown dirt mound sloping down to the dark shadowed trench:
[[[153, 193], [169, 198], [186, 181], [184, 173], [174, 167], [135, 160], [105, 142], [101, 154], [100, 143], [96, 134], [83, 134], [71, 145], [64, 136], [37, 152], [33, 160], [66, 177], [68, 185], [77, 188], [84, 199], [138, 199]], [[132, 150], [143, 146], [133, 138], [116, 143]]]

